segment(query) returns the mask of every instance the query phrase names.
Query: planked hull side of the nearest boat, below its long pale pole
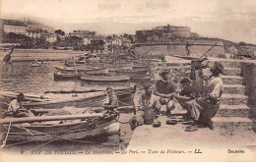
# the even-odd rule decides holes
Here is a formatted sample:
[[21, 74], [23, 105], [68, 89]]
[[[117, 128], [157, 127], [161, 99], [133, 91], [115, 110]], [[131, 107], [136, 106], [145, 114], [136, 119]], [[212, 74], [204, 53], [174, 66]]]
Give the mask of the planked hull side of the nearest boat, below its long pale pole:
[[[94, 122], [80, 121], [67, 124], [13, 124], [8, 136], [8, 141], [51, 141], [73, 140], [81, 138], [93, 138], [102, 135], [112, 135], [119, 132], [117, 115], [99, 118]], [[7, 129], [8, 125], [4, 125]], [[4, 135], [5, 138], [5, 135]]]

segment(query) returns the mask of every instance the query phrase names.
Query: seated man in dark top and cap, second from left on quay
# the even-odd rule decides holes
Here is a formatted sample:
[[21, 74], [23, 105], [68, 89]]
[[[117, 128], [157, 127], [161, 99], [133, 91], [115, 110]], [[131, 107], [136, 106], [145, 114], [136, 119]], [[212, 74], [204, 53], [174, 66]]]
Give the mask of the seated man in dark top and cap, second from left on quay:
[[173, 95], [175, 94], [176, 86], [169, 79], [169, 70], [160, 72], [161, 80], [156, 83], [154, 93], [159, 96], [161, 105], [166, 105], [166, 116], [170, 115], [170, 111], [175, 108]]

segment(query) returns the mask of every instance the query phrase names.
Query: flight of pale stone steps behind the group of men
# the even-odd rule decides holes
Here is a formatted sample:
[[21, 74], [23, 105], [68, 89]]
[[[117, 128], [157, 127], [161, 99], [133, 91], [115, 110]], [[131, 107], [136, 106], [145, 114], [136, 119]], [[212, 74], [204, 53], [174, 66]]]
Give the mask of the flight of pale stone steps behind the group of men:
[[[242, 85], [243, 78], [241, 77], [240, 61], [214, 58], [209, 60], [210, 66], [215, 61], [224, 65], [224, 74], [221, 76], [224, 82], [224, 94], [221, 98], [221, 107], [216, 117], [212, 119], [214, 128], [222, 129], [226, 133], [232, 133], [236, 130], [241, 132], [251, 130], [253, 122], [249, 119], [251, 111], [246, 105], [248, 97], [244, 95], [245, 86]], [[188, 61], [182, 61], [181, 64], [176, 64], [179, 63], [177, 60], [170, 60], [169, 62], [165, 67], [169, 68], [173, 74], [180, 71], [189, 76], [191, 65]]]

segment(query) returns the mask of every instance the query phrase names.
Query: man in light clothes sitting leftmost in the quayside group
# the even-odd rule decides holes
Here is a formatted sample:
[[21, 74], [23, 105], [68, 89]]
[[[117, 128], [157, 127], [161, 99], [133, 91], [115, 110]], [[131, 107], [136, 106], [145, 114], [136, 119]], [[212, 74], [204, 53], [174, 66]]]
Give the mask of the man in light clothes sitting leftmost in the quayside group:
[[[145, 92], [140, 95], [138, 99], [134, 99], [134, 115], [139, 125], [144, 124], [144, 110], [145, 108], [152, 109], [155, 115], [160, 113], [160, 102], [158, 96], [153, 93], [152, 85], [150, 83], [144, 84]], [[155, 116], [154, 115], [154, 116]]]

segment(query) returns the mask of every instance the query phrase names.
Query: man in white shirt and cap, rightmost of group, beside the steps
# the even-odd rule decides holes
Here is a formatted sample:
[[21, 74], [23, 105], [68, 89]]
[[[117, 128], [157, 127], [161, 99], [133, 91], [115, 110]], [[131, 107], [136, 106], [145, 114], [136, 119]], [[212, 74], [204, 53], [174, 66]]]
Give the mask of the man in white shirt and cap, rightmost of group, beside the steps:
[[212, 76], [205, 86], [205, 95], [187, 102], [194, 120], [193, 125], [186, 128], [188, 132], [198, 130], [199, 124], [214, 130], [211, 119], [216, 115], [221, 104], [223, 81], [220, 74], [224, 73], [224, 66], [220, 62], [215, 62], [215, 65], [211, 67], [211, 72]]

